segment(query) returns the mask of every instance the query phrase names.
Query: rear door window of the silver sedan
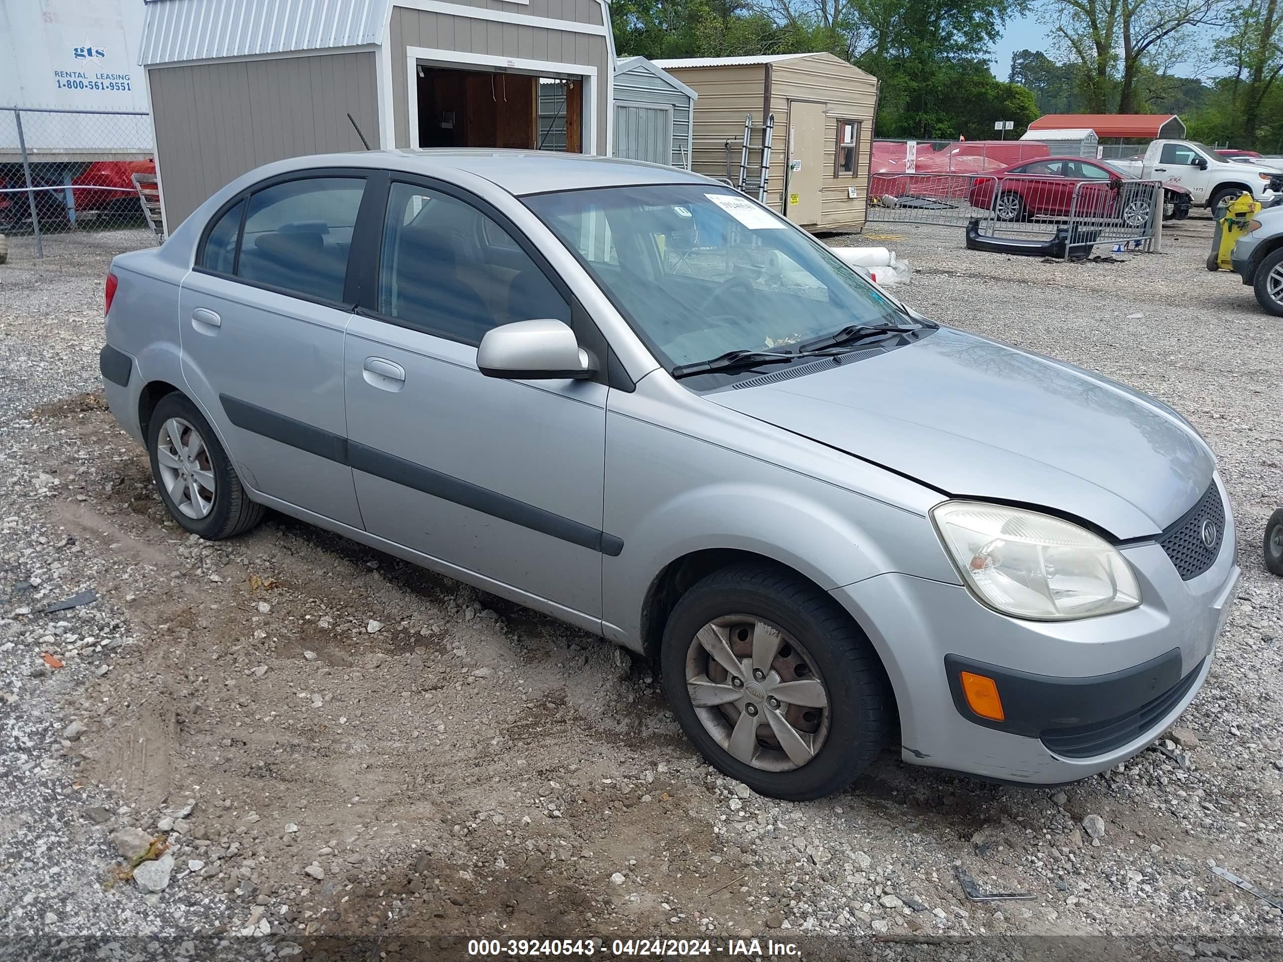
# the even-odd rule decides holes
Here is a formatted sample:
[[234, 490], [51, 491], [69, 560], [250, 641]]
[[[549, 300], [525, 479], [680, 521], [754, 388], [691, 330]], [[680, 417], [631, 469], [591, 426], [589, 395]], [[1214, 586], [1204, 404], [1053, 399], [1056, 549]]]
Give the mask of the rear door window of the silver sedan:
[[310, 300], [343, 303], [362, 177], [305, 177], [249, 199], [236, 276]]

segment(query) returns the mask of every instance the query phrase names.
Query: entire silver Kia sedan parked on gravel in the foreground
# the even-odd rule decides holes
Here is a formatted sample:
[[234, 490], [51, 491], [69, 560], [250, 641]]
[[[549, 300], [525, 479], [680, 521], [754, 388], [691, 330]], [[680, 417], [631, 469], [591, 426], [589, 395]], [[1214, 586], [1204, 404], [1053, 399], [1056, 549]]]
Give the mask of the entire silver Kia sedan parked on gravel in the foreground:
[[652, 655], [766, 795], [893, 738], [1109, 768], [1194, 698], [1238, 578], [1183, 417], [667, 167], [284, 160], [118, 257], [106, 309], [106, 398], [183, 528], [272, 508]]

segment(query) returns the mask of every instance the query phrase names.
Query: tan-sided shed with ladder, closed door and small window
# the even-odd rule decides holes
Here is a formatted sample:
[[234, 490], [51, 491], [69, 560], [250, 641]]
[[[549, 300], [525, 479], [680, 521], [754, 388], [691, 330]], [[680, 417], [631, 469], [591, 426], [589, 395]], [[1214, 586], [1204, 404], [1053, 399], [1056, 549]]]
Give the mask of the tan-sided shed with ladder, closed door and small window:
[[812, 231], [865, 224], [878, 78], [833, 54], [656, 60], [693, 89], [694, 169], [738, 185], [744, 118], [757, 196], [766, 118], [774, 117], [765, 203]]

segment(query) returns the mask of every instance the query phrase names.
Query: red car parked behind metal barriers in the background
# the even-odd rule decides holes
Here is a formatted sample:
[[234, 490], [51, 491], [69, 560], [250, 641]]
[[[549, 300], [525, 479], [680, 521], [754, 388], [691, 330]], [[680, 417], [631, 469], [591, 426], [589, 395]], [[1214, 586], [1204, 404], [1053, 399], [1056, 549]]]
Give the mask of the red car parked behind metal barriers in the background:
[[[1124, 181], [1134, 180], [1138, 180], [1135, 174], [1111, 167], [1105, 160], [1041, 156], [973, 178], [967, 200], [971, 207], [993, 210], [1005, 222], [1034, 217], [1065, 218], [1073, 207], [1075, 215], [1119, 218], [1128, 226], [1139, 226], [1150, 215], [1148, 199], [1123, 189]], [[1087, 186], [1079, 187], [1083, 182]], [[1165, 183], [1162, 219], [1185, 217], [1189, 199], [1185, 187]]]

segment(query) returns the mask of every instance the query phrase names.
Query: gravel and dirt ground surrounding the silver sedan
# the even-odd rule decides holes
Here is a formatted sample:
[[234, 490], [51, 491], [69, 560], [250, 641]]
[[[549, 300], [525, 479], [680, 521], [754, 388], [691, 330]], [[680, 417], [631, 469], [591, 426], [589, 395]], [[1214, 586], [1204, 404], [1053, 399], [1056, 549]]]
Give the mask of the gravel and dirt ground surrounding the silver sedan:
[[[1210, 866], [1283, 893], [1283, 580], [1260, 555], [1283, 322], [1203, 269], [1210, 231], [1083, 264], [937, 228], [835, 241], [894, 248], [929, 317], [1187, 414], [1245, 577], [1179, 727], [1115, 771], [996, 786], [889, 752], [807, 804], [702, 764], [650, 666], [574, 629], [281, 517], [186, 537], [95, 394], [105, 264], [0, 268], [0, 931], [21, 936], [0, 957], [426, 959], [536, 935], [1274, 957], [1283, 913]], [[971, 902], [958, 868], [1032, 898]]]

